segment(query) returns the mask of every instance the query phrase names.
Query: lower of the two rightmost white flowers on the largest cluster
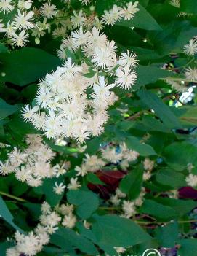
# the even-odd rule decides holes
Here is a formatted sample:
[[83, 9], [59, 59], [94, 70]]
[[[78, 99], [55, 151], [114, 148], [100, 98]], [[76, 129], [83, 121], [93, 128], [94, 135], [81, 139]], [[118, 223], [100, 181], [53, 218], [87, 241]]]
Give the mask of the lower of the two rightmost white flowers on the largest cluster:
[[120, 68], [116, 71], [116, 84], [120, 88], [129, 89], [134, 85], [135, 80], [137, 79], [137, 74], [135, 71], [129, 69], [129, 66], [124, 67], [124, 71]]

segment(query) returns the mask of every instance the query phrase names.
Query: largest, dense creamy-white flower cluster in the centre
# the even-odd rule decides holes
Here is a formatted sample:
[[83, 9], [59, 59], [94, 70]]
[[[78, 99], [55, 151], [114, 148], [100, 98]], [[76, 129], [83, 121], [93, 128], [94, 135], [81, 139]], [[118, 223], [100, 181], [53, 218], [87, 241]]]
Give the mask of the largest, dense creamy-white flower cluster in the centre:
[[[85, 62], [76, 65], [68, 58], [41, 80], [36, 106], [27, 105], [22, 112], [24, 119], [48, 138], [84, 142], [102, 133], [108, 120], [107, 109], [117, 99], [111, 89], [134, 85], [137, 55], [128, 52], [118, 57], [115, 43], [95, 27], [87, 32], [82, 27], [73, 31], [71, 44], [84, 53], [89, 66]], [[108, 85], [105, 76], [109, 75], [114, 82]]]

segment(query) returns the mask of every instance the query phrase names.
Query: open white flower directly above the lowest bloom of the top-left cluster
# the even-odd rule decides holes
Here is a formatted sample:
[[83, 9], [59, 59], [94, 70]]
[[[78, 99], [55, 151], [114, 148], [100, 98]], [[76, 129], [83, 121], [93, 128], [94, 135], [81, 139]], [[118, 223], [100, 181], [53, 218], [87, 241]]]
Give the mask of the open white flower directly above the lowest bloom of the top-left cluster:
[[20, 30], [28, 30], [34, 28], [34, 24], [31, 22], [33, 20], [34, 12], [20, 12], [20, 9], [17, 10], [17, 15], [15, 15], [15, 26]]

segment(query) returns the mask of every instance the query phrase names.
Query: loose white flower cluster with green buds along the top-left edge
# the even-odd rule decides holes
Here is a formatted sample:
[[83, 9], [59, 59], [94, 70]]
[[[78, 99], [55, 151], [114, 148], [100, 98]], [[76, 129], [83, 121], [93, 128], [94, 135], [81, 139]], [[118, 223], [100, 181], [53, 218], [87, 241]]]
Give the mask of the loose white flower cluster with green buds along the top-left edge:
[[[4, 32], [13, 45], [23, 47], [29, 36], [33, 36], [36, 44], [39, 44], [39, 38], [46, 33], [52, 33], [55, 38], [63, 38], [79, 26], [88, 29], [96, 26], [101, 29], [103, 25], [113, 25], [120, 18], [132, 19], [139, 10], [138, 2], [130, 2], [123, 8], [114, 5], [99, 19], [95, 14], [95, 6], [87, 7], [87, 4], [91, 4], [90, 0], [79, 1], [81, 9], [73, 10], [69, 0], [39, 1], [39, 5], [34, 5], [32, 0], [1, 0], [0, 12], [4, 15], [3, 20], [0, 20], [0, 32]], [[8, 14], [10, 19], [7, 21]]]

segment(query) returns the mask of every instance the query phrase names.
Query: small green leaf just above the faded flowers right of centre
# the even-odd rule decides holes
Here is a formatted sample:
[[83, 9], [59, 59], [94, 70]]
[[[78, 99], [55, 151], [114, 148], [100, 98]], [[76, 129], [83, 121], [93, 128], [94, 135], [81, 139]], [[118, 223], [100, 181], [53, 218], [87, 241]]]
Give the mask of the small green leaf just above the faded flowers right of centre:
[[125, 142], [129, 149], [137, 151], [142, 156], [156, 155], [153, 147], [145, 143], [140, 143], [140, 140], [134, 136], [127, 137]]

